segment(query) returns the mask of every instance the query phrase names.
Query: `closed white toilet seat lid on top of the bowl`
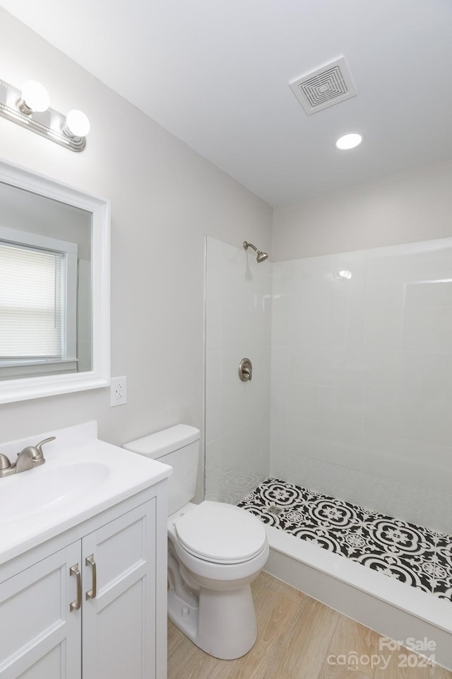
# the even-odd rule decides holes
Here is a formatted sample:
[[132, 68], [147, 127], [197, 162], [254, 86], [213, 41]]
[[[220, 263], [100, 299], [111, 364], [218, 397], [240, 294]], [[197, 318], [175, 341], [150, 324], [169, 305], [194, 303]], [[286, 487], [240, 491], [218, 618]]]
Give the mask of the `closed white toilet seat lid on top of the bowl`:
[[230, 504], [205, 500], [174, 522], [179, 545], [213, 564], [242, 564], [267, 547], [263, 524]]

